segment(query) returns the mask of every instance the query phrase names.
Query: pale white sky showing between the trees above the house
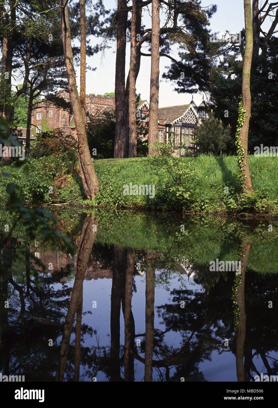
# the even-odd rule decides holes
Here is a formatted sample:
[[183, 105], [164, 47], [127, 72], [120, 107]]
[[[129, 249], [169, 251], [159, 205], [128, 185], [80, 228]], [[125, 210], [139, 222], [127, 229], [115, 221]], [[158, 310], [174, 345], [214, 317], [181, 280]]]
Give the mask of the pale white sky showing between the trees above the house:
[[[211, 20], [212, 31], [224, 33], [226, 29], [230, 32], [238, 33], [244, 27], [244, 10], [243, 0], [202, 0], [202, 6], [217, 4], [217, 13]], [[116, 8], [116, 1], [104, 0], [107, 9]], [[161, 17], [162, 20], [162, 17]], [[151, 19], [147, 13], [142, 17], [146, 28], [151, 27]], [[91, 43], [95, 44], [95, 39], [91, 39]], [[96, 71], [87, 71], [86, 74], [86, 93], [103, 94], [105, 92], [114, 92], [115, 84], [115, 61], [116, 61], [116, 44], [111, 44], [112, 48], [105, 51], [105, 56], [101, 62], [101, 53], [88, 58], [87, 62], [91, 67], [96, 67]], [[127, 44], [126, 53], [126, 76], [129, 71], [129, 55], [130, 44]], [[175, 58], [176, 54], [172, 54]], [[179, 104], [187, 104], [190, 102], [192, 95], [179, 94], [174, 91], [174, 84], [162, 80], [164, 67], [171, 64], [171, 60], [166, 57], [160, 58], [160, 90], [159, 90], [159, 106], [171, 106]], [[141, 57], [140, 72], [136, 81], [136, 91], [141, 93], [142, 99], [149, 101], [149, 86], [150, 86], [150, 71], [151, 58]], [[79, 68], [77, 67], [77, 80], [79, 81]], [[201, 102], [202, 95], [195, 94], [194, 100]]]

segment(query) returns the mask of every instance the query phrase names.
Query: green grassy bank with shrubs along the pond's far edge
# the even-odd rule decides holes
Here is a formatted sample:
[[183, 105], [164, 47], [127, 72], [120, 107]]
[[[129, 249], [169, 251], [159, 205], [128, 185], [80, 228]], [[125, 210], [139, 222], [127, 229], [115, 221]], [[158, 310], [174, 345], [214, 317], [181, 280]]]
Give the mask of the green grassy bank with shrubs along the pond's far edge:
[[[42, 157], [20, 168], [1, 168], [0, 199], [8, 198], [6, 186], [15, 182], [26, 203], [40, 200], [44, 204], [71, 204], [107, 208], [141, 208], [177, 211], [219, 212], [255, 211], [278, 213], [278, 157], [249, 157], [254, 186], [252, 197], [240, 194], [236, 157], [210, 156], [178, 158], [178, 170], [150, 164], [147, 157], [95, 160], [99, 195], [86, 200], [82, 183], [75, 171], [69, 175], [70, 163], [59, 157]], [[28, 167], [28, 169], [27, 169]], [[2, 172], [9, 171], [10, 177]], [[173, 172], [176, 172], [173, 175]], [[124, 194], [124, 185], [154, 186], [150, 195]], [[125, 191], [126, 192], [126, 191]], [[136, 188], [134, 190], [136, 193]]]

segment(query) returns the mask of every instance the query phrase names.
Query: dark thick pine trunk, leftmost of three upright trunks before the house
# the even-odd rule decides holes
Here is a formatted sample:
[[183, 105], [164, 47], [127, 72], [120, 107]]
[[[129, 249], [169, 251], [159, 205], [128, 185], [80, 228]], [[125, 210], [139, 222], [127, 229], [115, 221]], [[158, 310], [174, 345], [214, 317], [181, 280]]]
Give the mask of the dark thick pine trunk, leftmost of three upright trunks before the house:
[[127, 2], [118, 0], [117, 10], [117, 51], [116, 51], [116, 75], [115, 75], [115, 147], [114, 157], [127, 157], [128, 139], [128, 99], [125, 93], [125, 48], [127, 35]]

